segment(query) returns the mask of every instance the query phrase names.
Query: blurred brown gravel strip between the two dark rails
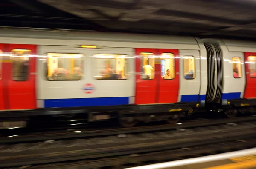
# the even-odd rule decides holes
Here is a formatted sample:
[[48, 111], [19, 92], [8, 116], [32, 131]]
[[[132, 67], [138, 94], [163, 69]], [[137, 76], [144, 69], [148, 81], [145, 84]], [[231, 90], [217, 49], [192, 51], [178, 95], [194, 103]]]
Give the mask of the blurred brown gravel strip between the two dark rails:
[[[30, 154], [30, 153], [44, 153], [67, 150], [90, 150], [100, 149], [108, 146], [121, 145], [138, 145], [143, 143], [154, 143], [168, 140], [169, 143], [179, 143], [191, 140], [200, 140], [203, 138], [211, 138], [226, 133], [225, 135], [233, 135], [250, 132], [251, 129], [256, 129], [256, 121], [237, 123], [236, 126], [222, 124], [218, 126], [199, 127], [194, 129], [176, 129], [166, 132], [141, 133], [134, 135], [108, 136], [102, 138], [90, 139], [75, 139], [75, 140], [59, 140], [38, 143], [18, 143], [12, 145], [0, 144], [0, 156], [7, 154]], [[42, 151], [45, 150], [45, 151]], [[90, 150], [91, 151], [91, 150]], [[6, 154], [7, 153], [7, 154]]]

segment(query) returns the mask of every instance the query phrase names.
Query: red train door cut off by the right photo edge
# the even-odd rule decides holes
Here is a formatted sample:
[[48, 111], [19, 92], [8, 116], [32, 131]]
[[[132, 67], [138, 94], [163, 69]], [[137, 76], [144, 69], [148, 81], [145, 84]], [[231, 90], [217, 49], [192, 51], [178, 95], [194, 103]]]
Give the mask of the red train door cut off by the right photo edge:
[[246, 85], [244, 98], [256, 98], [256, 53], [244, 52]]

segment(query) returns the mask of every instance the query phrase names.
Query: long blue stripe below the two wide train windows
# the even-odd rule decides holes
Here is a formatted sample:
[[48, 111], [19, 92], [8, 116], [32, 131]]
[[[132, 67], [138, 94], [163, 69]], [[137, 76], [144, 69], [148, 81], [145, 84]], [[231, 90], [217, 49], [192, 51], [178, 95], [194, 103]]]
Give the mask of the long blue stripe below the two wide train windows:
[[44, 107], [116, 106], [129, 104], [129, 97], [102, 97], [44, 100]]

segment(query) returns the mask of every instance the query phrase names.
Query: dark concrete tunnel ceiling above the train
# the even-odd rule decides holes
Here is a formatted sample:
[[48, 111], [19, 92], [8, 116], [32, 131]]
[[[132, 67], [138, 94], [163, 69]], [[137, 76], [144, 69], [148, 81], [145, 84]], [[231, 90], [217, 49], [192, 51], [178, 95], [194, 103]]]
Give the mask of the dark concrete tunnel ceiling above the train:
[[256, 0], [1, 0], [1, 26], [256, 40]]

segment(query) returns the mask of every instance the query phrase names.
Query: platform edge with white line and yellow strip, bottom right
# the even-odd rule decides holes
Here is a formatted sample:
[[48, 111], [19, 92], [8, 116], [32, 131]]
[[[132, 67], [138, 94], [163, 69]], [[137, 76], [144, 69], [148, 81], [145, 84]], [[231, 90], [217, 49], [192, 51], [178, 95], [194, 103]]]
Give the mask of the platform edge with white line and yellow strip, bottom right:
[[256, 148], [127, 169], [256, 169]]

